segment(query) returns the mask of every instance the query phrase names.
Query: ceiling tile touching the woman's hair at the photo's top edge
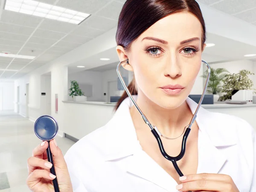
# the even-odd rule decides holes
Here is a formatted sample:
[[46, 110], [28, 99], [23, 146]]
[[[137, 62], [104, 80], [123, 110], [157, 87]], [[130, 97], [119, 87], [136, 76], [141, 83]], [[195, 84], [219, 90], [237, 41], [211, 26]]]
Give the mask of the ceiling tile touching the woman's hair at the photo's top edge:
[[118, 20], [122, 7], [123, 3], [113, 1], [108, 6], [97, 12], [97, 15]]

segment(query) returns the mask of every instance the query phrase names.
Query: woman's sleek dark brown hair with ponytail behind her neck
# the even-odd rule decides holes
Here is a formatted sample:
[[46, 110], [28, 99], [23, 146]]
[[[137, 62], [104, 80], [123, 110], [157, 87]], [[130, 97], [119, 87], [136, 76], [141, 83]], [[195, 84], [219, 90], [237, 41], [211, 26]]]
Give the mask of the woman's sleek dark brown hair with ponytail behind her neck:
[[[129, 51], [131, 43], [158, 20], [177, 12], [190, 12], [202, 25], [202, 46], [206, 41], [204, 18], [195, 0], [127, 0], [119, 15], [116, 43]], [[137, 95], [135, 79], [128, 85], [132, 95]], [[126, 91], [116, 104], [116, 109], [128, 97]]]

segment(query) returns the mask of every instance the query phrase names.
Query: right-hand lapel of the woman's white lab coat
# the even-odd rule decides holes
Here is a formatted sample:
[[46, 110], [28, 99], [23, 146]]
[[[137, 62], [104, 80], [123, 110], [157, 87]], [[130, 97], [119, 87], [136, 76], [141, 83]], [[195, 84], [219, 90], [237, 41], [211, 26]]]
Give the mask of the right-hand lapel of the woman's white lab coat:
[[[192, 113], [195, 112], [198, 104], [192, 99], [186, 99]], [[215, 113], [211, 113], [204, 108], [198, 110], [195, 120], [199, 127], [198, 133], [198, 171], [197, 173], [218, 173], [227, 160], [224, 154], [225, 148], [236, 144], [236, 136], [230, 130], [226, 122], [216, 122]], [[221, 132], [228, 132], [229, 138], [221, 138]]]

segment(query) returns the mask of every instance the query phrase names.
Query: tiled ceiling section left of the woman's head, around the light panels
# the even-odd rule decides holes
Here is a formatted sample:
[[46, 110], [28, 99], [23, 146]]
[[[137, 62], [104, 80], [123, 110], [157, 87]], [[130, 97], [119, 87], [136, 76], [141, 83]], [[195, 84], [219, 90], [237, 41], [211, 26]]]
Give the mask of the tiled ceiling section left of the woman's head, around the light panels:
[[[0, 57], [0, 79], [17, 79], [117, 26], [125, 0], [38, 0], [91, 14], [75, 25], [3, 10], [0, 0], [0, 52], [36, 56]], [[19, 70], [14, 71], [1, 71]]]

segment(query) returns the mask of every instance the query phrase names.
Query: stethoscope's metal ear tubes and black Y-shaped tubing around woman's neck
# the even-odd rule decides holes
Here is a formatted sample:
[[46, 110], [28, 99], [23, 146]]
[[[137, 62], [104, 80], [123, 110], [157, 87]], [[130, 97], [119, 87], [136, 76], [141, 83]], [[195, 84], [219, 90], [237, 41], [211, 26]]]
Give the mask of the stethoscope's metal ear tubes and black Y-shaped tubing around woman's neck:
[[[180, 168], [179, 168], [178, 165], [177, 165], [177, 161], [178, 161], [178, 160], [181, 160], [182, 157], [183, 157], [184, 154], [185, 154], [185, 151], [186, 151], [186, 140], [187, 140], [187, 138], [188, 138], [188, 136], [189, 136], [189, 132], [190, 132], [190, 130], [191, 130], [192, 124], [194, 123], [195, 118], [196, 118], [196, 116], [197, 116], [198, 109], [200, 108], [201, 103], [202, 103], [202, 101], [203, 101], [203, 99], [204, 99], [204, 95], [205, 95], [205, 92], [206, 92], [206, 89], [207, 89], [207, 85], [208, 85], [208, 81], [209, 81], [209, 77], [210, 77], [210, 73], [211, 73], [211, 68], [210, 68], [209, 64], [207, 64], [206, 61], [203, 61], [203, 60], [202, 60], [202, 62], [203, 62], [204, 64], [206, 64], [207, 69], [208, 69], [207, 79], [206, 79], [206, 82], [205, 82], [205, 85], [204, 85], [204, 91], [203, 91], [203, 94], [202, 94], [202, 96], [201, 96], [201, 99], [200, 99], [200, 101], [199, 101], [199, 103], [198, 103], [198, 107], [196, 108], [195, 113], [194, 113], [194, 115], [192, 116], [192, 119], [191, 119], [190, 122], [189, 122], [189, 125], [187, 125], [187, 126], [184, 128], [184, 131], [183, 131], [183, 133], [181, 134], [181, 135], [183, 135], [184, 132], [185, 132], [185, 134], [183, 135], [183, 140], [182, 140], [182, 145], [181, 145], [180, 154], [179, 154], [178, 156], [176, 156], [176, 157], [172, 157], [172, 156], [169, 156], [169, 155], [166, 153], [166, 151], [164, 150], [163, 143], [162, 143], [162, 140], [161, 140], [160, 136], [163, 137], [163, 138], [169, 139], [169, 140], [176, 139], [176, 138], [178, 138], [178, 137], [176, 137], [176, 138], [169, 138], [169, 137], [163, 136], [163, 134], [160, 133], [160, 131], [157, 129], [157, 127], [154, 126], [154, 125], [152, 125], [152, 124], [148, 121], [147, 117], [143, 114], [143, 112], [140, 110], [139, 106], [137, 105], [137, 103], [135, 102], [135, 100], [133, 99], [133, 97], [131, 96], [131, 93], [130, 93], [130, 91], [128, 90], [128, 87], [126, 86], [125, 81], [124, 81], [124, 79], [122, 78], [122, 75], [121, 75], [121, 73], [120, 73], [120, 66], [121, 66], [121, 64], [122, 64], [123, 62], [126, 62], [126, 64], [129, 64], [128, 59], [126, 59], [125, 61], [121, 61], [121, 62], [117, 65], [116, 72], [117, 72], [117, 74], [118, 74], [118, 76], [119, 76], [119, 79], [120, 79], [121, 82], [122, 82], [123, 87], [125, 88], [126, 93], [127, 93], [128, 96], [130, 97], [131, 101], [133, 102], [133, 104], [135, 105], [135, 107], [137, 108], [137, 110], [140, 112], [141, 117], [143, 118], [143, 120], [145, 121], [145, 123], [149, 126], [149, 128], [151, 128], [151, 132], [152, 132], [152, 134], [154, 135], [154, 137], [155, 137], [156, 140], [157, 140], [157, 143], [158, 143], [158, 145], [159, 145], [159, 148], [160, 148], [160, 151], [161, 151], [161, 154], [163, 155], [163, 157], [165, 157], [167, 160], [169, 160], [169, 161], [172, 162], [172, 164], [173, 164], [175, 170], [176, 170], [177, 173], [180, 175], [180, 177], [183, 176], [183, 173], [180, 171]], [[181, 135], [180, 135], [179, 137], [181, 137]]]

